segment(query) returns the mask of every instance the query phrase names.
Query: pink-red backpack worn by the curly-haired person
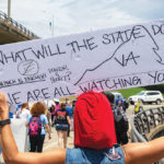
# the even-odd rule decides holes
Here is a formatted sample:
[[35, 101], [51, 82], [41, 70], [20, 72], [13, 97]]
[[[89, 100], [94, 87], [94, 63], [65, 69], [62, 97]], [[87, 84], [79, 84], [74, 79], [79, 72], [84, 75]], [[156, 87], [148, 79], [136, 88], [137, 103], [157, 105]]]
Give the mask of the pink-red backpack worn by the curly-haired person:
[[42, 132], [42, 121], [39, 117], [33, 116], [30, 120], [30, 136], [39, 136]]

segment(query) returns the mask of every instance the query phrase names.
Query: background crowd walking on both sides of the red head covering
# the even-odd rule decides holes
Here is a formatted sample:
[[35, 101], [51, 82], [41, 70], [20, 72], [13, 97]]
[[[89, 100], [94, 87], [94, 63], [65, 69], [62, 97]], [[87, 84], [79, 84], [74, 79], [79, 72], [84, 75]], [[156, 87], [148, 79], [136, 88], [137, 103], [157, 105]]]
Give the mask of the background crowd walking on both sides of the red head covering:
[[[127, 144], [129, 142], [129, 121], [126, 116], [126, 110], [129, 107], [129, 104], [126, 98], [122, 99], [119, 95], [115, 97], [110, 92], [103, 94], [110, 103], [117, 143]], [[62, 148], [62, 145], [65, 149], [67, 148], [70, 128], [73, 129], [71, 122], [73, 121], [75, 102], [77, 99], [70, 102], [69, 98], [66, 98], [66, 101], [62, 101], [61, 103], [59, 98], [55, 98], [50, 105], [45, 102], [37, 102], [31, 108], [28, 103], [19, 106], [15, 117], [19, 119], [26, 119], [26, 127], [30, 131], [30, 152], [43, 152], [46, 131], [48, 138], [51, 139], [51, 128], [55, 128], [57, 131], [58, 148]], [[134, 105], [134, 114], [138, 113], [136, 108], [139, 108], [138, 104]], [[37, 130], [39, 132], [36, 132]], [[39, 133], [39, 137], [37, 133]]]

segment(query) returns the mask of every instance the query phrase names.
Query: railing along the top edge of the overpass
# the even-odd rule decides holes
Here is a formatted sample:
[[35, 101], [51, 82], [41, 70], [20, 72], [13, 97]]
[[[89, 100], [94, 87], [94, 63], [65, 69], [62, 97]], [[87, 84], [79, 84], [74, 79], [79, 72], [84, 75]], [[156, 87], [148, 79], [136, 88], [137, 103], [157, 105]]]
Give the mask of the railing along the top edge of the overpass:
[[12, 26], [13, 28], [17, 28], [21, 33], [24, 33], [25, 35], [27, 35], [28, 37], [32, 38], [39, 38], [37, 35], [35, 35], [33, 32], [31, 32], [30, 30], [27, 30], [25, 26], [23, 26], [22, 24], [17, 23], [16, 21], [14, 21], [11, 17], [8, 17], [8, 15], [3, 12], [0, 11], [0, 20], [7, 25]]

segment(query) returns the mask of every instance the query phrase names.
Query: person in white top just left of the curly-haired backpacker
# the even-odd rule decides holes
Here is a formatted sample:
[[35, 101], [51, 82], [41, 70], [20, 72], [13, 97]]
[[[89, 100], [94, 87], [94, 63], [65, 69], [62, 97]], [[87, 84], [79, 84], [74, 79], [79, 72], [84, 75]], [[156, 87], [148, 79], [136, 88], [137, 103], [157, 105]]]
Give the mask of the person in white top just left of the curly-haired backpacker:
[[27, 119], [30, 115], [31, 113], [28, 109], [28, 103], [22, 104], [21, 109], [16, 112], [16, 118], [21, 118], [21, 119]]

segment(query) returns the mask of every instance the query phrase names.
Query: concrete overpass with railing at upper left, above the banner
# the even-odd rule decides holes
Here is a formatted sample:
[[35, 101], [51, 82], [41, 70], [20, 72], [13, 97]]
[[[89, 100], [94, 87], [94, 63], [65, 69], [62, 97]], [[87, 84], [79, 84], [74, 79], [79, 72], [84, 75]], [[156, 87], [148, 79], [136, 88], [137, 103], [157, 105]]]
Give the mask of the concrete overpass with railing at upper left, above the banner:
[[0, 45], [37, 38], [33, 32], [0, 11]]

